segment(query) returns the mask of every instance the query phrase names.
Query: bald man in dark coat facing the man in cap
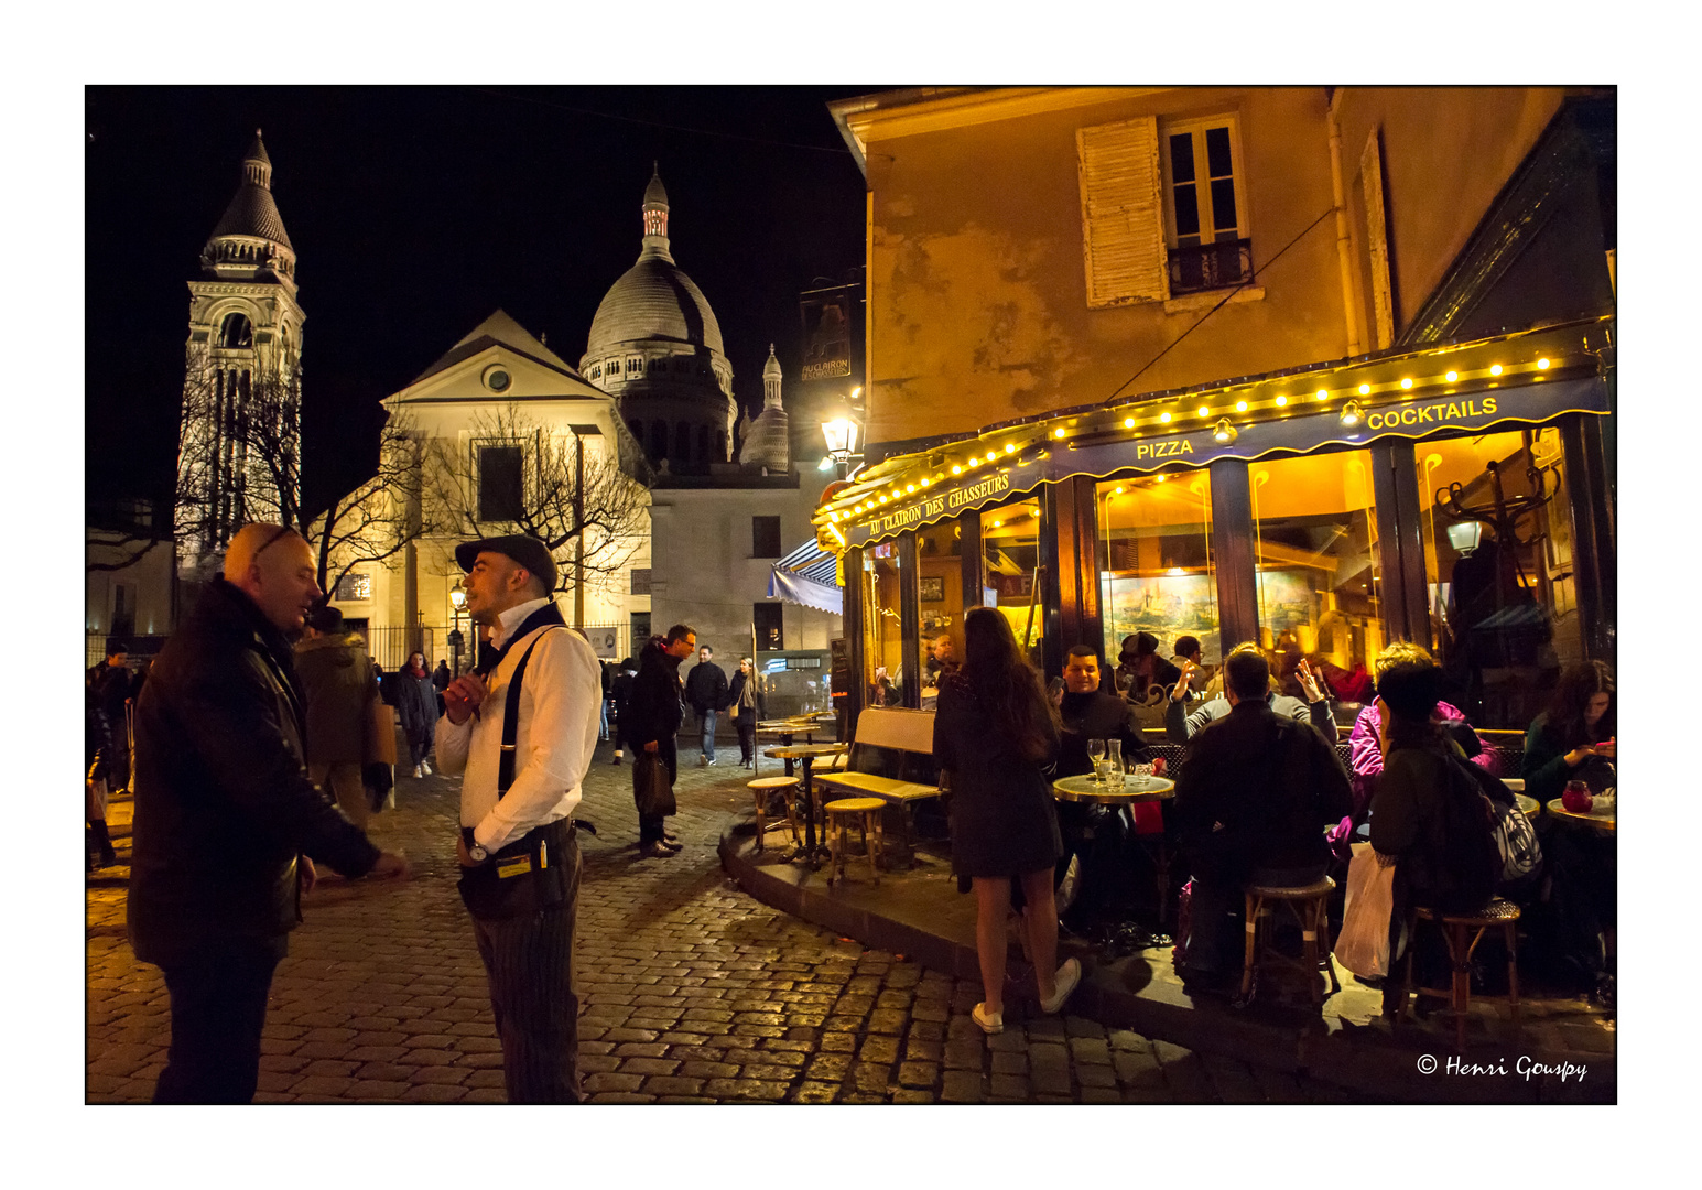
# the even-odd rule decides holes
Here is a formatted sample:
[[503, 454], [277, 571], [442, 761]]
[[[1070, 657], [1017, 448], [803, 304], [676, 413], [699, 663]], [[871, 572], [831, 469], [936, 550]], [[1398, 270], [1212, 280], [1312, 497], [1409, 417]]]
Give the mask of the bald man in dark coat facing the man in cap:
[[254, 1098], [272, 970], [315, 860], [407, 875], [308, 780], [289, 638], [318, 598], [300, 535], [242, 526], [141, 688], [128, 918], [172, 998], [157, 1103]]

